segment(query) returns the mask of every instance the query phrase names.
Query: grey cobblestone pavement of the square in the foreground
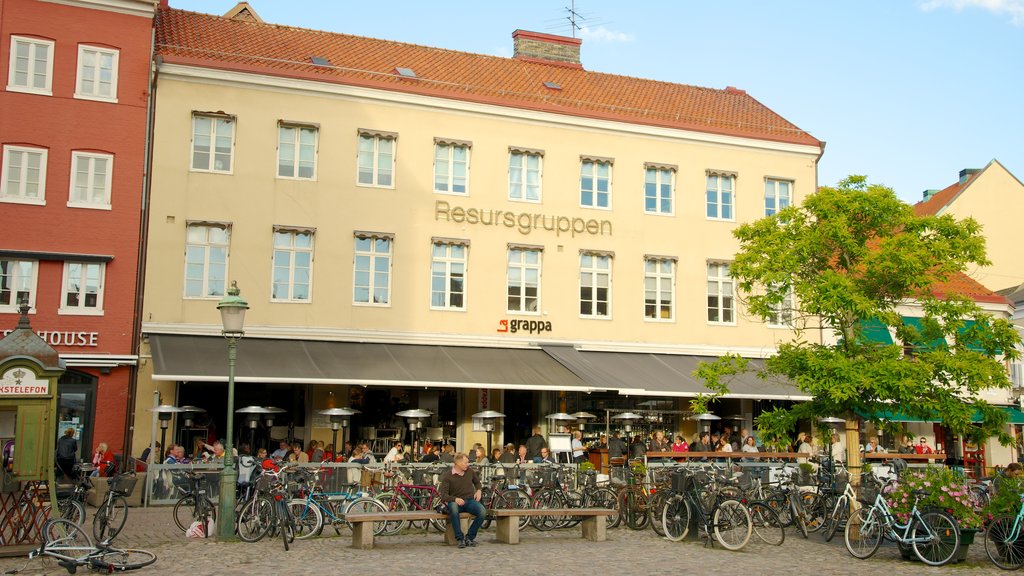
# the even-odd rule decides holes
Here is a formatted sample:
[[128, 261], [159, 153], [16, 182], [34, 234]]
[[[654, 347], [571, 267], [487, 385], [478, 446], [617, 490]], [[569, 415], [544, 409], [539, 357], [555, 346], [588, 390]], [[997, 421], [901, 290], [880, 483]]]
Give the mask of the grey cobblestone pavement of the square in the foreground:
[[[93, 509], [89, 509], [88, 521]], [[327, 532], [333, 531], [328, 529]], [[124, 547], [140, 547], [155, 552], [157, 563], [140, 574], [205, 576], [240, 574], [253, 576], [286, 571], [288, 574], [442, 574], [457, 569], [464, 574], [797, 574], [838, 575], [869, 571], [871, 574], [1001, 574], [985, 556], [981, 537], [970, 548], [967, 562], [929, 568], [900, 560], [892, 544], [884, 544], [866, 561], [847, 551], [842, 535], [829, 543], [812, 534], [805, 540], [786, 531], [778, 547], [756, 545], [752, 540], [741, 551], [705, 547], [697, 542], [669, 542], [651, 530], [632, 531], [620, 527], [608, 531], [606, 542], [590, 542], [580, 537], [580, 528], [556, 532], [522, 532], [518, 545], [494, 541], [492, 531], [482, 532], [476, 548], [458, 549], [442, 544], [436, 532], [408, 533], [377, 539], [373, 550], [350, 547], [347, 529], [340, 537], [296, 541], [284, 551], [280, 539], [257, 543], [218, 542], [215, 539], [186, 539], [171, 519], [169, 507], [131, 508], [124, 532], [115, 541]], [[24, 558], [0, 558], [0, 572], [22, 568]], [[331, 571], [331, 572], [328, 572]], [[63, 574], [58, 567], [45, 567], [34, 560], [20, 574]]]

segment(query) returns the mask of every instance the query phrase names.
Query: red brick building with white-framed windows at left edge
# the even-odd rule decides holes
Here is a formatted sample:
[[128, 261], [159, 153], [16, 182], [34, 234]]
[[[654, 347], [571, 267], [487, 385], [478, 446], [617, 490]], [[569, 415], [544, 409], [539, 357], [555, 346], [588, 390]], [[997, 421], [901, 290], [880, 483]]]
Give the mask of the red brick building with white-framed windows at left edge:
[[27, 298], [85, 458], [130, 425], [154, 5], [0, 0], [0, 330]]

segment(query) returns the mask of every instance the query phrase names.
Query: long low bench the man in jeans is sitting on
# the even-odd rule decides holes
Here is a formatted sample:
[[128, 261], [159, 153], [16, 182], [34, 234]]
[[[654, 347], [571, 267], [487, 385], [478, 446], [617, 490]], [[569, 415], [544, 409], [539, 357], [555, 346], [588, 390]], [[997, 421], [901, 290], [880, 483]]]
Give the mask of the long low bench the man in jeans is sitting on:
[[[500, 508], [488, 510], [487, 513], [497, 519], [497, 540], [506, 544], [519, 543], [519, 519], [521, 517], [538, 516], [573, 516], [584, 517], [581, 523], [583, 527], [583, 537], [595, 542], [603, 542], [607, 539], [607, 522], [604, 517], [615, 513], [615, 510], [608, 508]], [[463, 512], [460, 515], [463, 522], [463, 533], [466, 531], [466, 522], [473, 518], [473, 515]], [[352, 525], [352, 547], [360, 549], [371, 549], [374, 547], [374, 523], [385, 521], [419, 521], [419, 520], [447, 520], [446, 513], [437, 513], [433, 510], [396, 510], [389, 512], [349, 512], [345, 515], [345, 520]], [[449, 545], [458, 544], [455, 539], [455, 530], [447, 526], [444, 531], [444, 543]]]

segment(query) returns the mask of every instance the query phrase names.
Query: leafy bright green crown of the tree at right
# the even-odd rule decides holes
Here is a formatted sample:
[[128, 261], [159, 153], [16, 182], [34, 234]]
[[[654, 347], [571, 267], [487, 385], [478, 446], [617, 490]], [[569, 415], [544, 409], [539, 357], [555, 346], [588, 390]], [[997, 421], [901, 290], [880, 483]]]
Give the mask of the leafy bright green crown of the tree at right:
[[[1008, 321], [946, 290], [987, 263], [976, 221], [916, 215], [892, 190], [850, 176], [734, 234], [740, 248], [730, 274], [748, 310], [768, 319], [792, 303], [795, 337], [761, 376], [812, 399], [763, 413], [757, 424], [767, 439], [826, 415], [895, 429], [886, 415], [898, 412], [1009, 442], [1006, 412], [979, 390], [1010, 386], [1002, 359], [1017, 358], [1020, 338]], [[922, 321], [906, 323], [901, 305], [918, 306]], [[895, 343], [870, 337], [885, 329]], [[734, 369], [734, 359], [723, 363], [719, 372]]]

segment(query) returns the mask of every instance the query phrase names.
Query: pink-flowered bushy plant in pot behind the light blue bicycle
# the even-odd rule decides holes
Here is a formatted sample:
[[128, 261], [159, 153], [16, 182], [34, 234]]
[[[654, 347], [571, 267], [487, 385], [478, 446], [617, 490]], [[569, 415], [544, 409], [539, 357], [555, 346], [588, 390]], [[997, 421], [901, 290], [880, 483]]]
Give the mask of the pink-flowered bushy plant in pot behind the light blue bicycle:
[[[975, 507], [971, 498], [971, 489], [964, 476], [944, 466], [928, 466], [924, 469], [907, 469], [899, 478], [899, 482], [889, 489], [886, 499], [893, 516], [900, 523], [910, 520], [910, 510], [914, 503], [914, 490], [928, 491], [927, 496], [918, 500], [918, 509], [925, 511], [938, 508], [949, 512], [959, 524], [961, 542], [953, 562], [963, 562], [967, 558], [968, 547], [974, 543], [974, 537], [982, 528], [983, 517]], [[900, 546], [904, 559], [915, 559], [913, 551]]]

